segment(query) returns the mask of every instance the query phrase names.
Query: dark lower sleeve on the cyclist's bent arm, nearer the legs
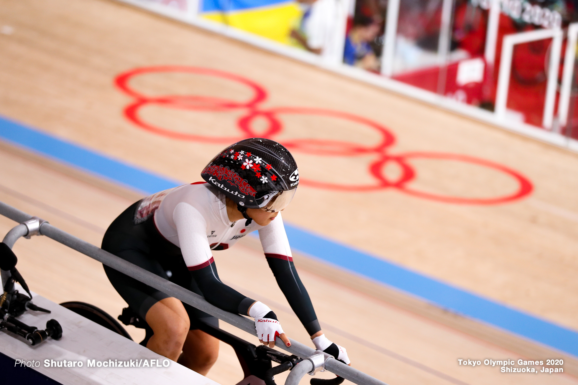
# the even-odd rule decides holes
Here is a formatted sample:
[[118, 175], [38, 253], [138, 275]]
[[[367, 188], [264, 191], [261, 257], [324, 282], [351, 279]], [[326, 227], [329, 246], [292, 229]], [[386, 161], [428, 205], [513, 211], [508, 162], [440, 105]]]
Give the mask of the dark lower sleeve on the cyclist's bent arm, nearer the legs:
[[218, 278], [217, 267], [211, 258], [208, 266], [191, 271], [192, 279], [197, 282], [201, 293], [209, 304], [217, 306], [231, 313], [247, 315], [249, 306], [255, 302], [251, 298], [243, 296], [231, 287], [225, 285]]

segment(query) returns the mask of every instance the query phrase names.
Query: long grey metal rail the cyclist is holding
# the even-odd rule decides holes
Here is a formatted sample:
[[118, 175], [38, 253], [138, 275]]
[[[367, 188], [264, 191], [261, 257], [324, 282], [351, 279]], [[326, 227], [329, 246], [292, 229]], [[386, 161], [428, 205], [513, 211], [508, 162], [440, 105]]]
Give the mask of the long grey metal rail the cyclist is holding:
[[[0, 214], [15, 220], [18, 223], [25, 222], [32, 218], [31, 215], [17, 210], [16, 208], [11, 207], [10, 205], [3, 202], [0, 202]], [[17, 234], [19, 237], [28, 236], [28, 230], [23, 231], [24, 227], [19, 226], [23, 225], [17, 226], [18, 230], [14, 231], [14, 236], [17, 236]], [[194, 306], [199, 310], [202, 310], [203, 312], [216, 316], [218, 319], [236, 326], [251, 335], [256, 335], [255, 323], [253, 320], [221, 310], [216, 306], [209, 304], [209, 302], [205, 301], [205, 298], [202, 296], [192, 293], [192, 291], [184, 289], [184, 287], [176, 285], [175, 283], [166, 281], [166, 279], [147, 270], [144, 270], [143, 268], [136, 266], [128, 261], [125, 261], [116, 255], [106, 252], [97, 246], [91, 245], [88, 242], [81, 240], [80, 238], [76, 238], [71, 234], [65, 233], [65, 231], [50, 225], [48, 222], [40, 222], [38, 233], [43, 236], [52, 238], [53, 240], [60, 242], [69, 248], [75, 249], [84, 255], [94, 258], [106, 266], [123, 272], [124, 274], [131, 276], [140, 282], [144, 282], [147, 285], [154, 287], [155, 289], [161, 290], [164, 293], [169, 294], [169, 296], [175, 297], [191, 306]], [[16, 241], [16, 239], [17, 238], [14, 238], [14, 241]], [[302, 343], [295, 341], [294, 339], [290, 338], [290, 341], [291, 346], [287, 347], [279, 337], [276, 339], [277, 346], [287, 350], [292, 354], [295, 354], [296, 356], [307, 358], [317, 353], [314, 349], [305, 346]], [[372, 376], [366, 375], [365, 373], [360, 372], [355, 368], [335, 360], [335, 358], [330, 357], [325, 361], [325, 369], [358, 385], [387, 385], [386, 383], [381, 382]]]

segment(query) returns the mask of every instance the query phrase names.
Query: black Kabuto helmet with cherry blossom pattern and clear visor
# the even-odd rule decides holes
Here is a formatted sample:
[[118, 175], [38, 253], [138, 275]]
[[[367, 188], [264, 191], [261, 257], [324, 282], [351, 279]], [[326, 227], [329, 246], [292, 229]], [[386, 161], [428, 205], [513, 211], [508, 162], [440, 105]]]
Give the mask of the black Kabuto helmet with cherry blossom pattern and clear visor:
[[287, 148], [271, 139], [250, 138], [221, 151], [201, 177], [237, 203], [250, 223], [247, 208], [283, 210], [299, 185], [297, 163]]

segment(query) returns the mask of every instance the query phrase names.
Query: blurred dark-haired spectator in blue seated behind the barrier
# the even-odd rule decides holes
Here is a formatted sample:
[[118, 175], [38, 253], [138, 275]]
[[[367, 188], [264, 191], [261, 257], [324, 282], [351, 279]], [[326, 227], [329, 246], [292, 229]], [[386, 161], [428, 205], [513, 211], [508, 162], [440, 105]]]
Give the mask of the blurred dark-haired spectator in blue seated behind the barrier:
[[375, 40], [380, 31], [380, 23], [374, 18], [356, 16], [353, 20], [353, 27], [345, 39], [343, 62], [366, 70], [379, 70], [379, 61], [370, 42]]

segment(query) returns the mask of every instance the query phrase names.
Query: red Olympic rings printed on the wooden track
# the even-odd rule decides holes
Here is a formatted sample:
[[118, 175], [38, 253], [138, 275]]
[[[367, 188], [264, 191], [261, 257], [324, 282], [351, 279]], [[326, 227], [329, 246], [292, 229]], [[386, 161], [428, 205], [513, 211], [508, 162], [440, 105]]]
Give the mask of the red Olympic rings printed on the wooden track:
[[[247, 100], [237, 101], [224, 98], [217, 98], [213, 96], [202, 96], [202, 95], [162, 95], [162, 96], [149, 96], [144, 95], [141, 92], [135, 91], [129, 85], [129, 82], [138, 75], [141, 74], [151, 74], [151, 73], [191, 73], [202, 76], [217, 77], [220, 79], [225, 79], [229, 81], [234, 81], [244, 87], [247, 87], [251, 91], [251, 96]], [[285, 147], [291, 151], [304, 152], [311, 155], [324, 155], [324, 156], [361, 156], [361, 155], [375, 155], [375, 160], [369, 165], [369, 173], [375, 178], [375, 184], [368, 185], [342, 185], [333, 184], [329, 182], [313, 181], [301, 179], [302, 184], [309, 185], [316, 188], [331, 189], [331, 190], [341, 190], [341, 191], [375, 191], [386, 188], [395, 188], [400, 192], [406, 193], [408, 195], [420, 197], [423, 199], [435, 200], [445, 203], [457, 203], [457, 204], [498, 204], [505, 203], [509, 201], [514, 201], [520, 199], [524, 196], [529, 195], [532, 192], [532, 183], [524, 177], [524, 175], [518, 173], [515, 170], [509, 169], [506, 166], [500, 165], [499, 163], [490, 162], [489, 160], [474, 158], [473, 156], [460, 155], [460, 154], [446, 154], [438, 152], [406, 152], [403, 154], [388, 154], [388, 148], [395, 144], [395, 136], [390, 132], [385, 126], [360, 117], [358, 115], [344, 113], [342, 111], [325, 110], [325, 109], [315, 109], [309, 107], [275, 107], [271, 109], [261, 109], [259, 104], [267, 99], [267, 92], [261, 85], [255, 83], [252, 80], [246, 79], [244, 77], [223, 72], [220, 70], [214, 70], [209, 68], [199, 68], [190, 66], [157, 66], [157, 67], [144, 67], [130, 70], [125, 73], [121, 73], [115, 79], [115, 83], [118, 88], [120, 88], [125, 94], [131, 96], [135, 99], [134, 103], [129, 104], [124, 109], [125, 117], [129, 121], [133, 122], [135, 125], [139, 126], [144, 130], [148, 130], [155, 134], [159, 134], [166, 137], [171, 137], [173, 139], [179, 140], [189, 140], [198, 141], [203, 143], [222, 143], [231, 144], [235, 141], [246, 139], [248, 137], [265, 137], [268, 139], [274, 139], [279, 141]], [[242, 115], [238, 119], [237, 127], [240, 130], [239, 136], [235, 137], [218, 137], [218, 136], [204, 136], [198, 134], [181, 133], [172, 131], [166, 128], [162, 128], [153, 125], [145, 121], [139, 115], [139, 111], [142, 107], [155, 104], [158, 106], [168, 107], [171, 109], [179, 110], [192, 110], [192, 111], [246, 111], [246, 114]], [[347, 141], [339, 140], [324, 140], [324, 139], [287, 139], [279, 140], [274, 137], [277, 134], [283, 132], [283, 122], [280, 120], [279, 115], [292, 114], [292, 115], [317, 115], [329, 118], [338, 118], [346, 121], [350, 121], [353, 124], [363, 125], [372, 130], [375, 130], [379, 134], [379, 143], [375, 145], [362, 145]], [[264, 119], [267, 126], [262, 132], [255, 133], [253, 129], [253, 124], [255, 119]], [[416, 171], [410, 165], [410, 159], [438, 159], [438, 160], [454, 160], [458, 162], [469, 163], [470, 165], [477, 165], [487, 167], [492, 170], [500, 171], [503, 174], [508, 175], [517, 182], [517, 189], [513, 193], [498, 197], [489, 198], [470, 198], [470, 197], [454, 197], [454, 196], [444, 196], [437, 195], [434, 193], [423, 192], [416, 189], [412, 189], [408, 184], [416, 178]], [[397, 177], [396, 180], [388, 180], [386, 175], [384, 175], [383, 170], [388, 162], [397, 163], [399, 169], [401, 170], [401, 175]]]

